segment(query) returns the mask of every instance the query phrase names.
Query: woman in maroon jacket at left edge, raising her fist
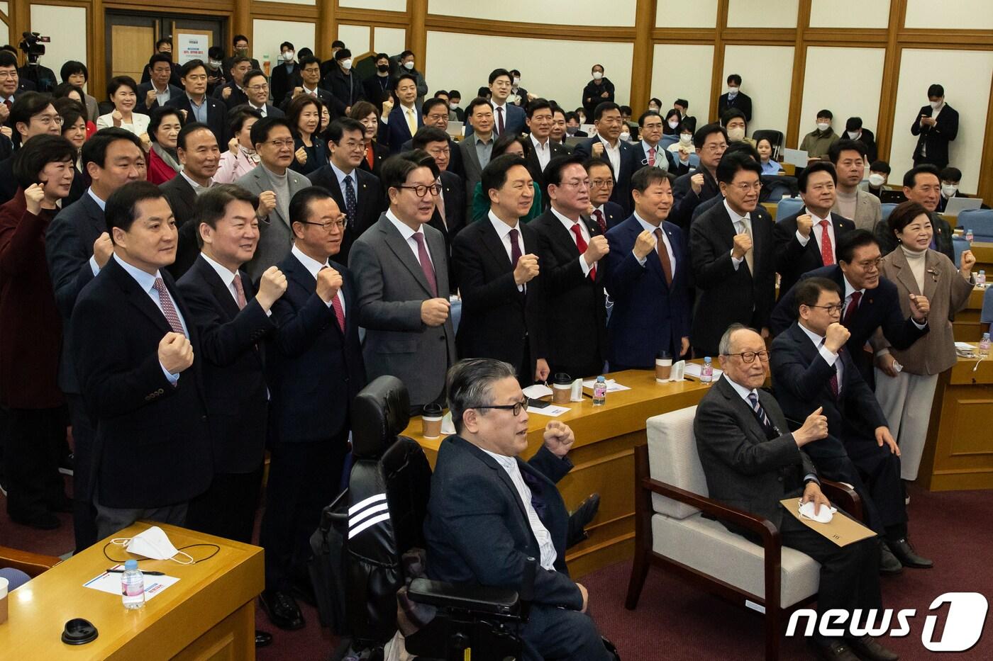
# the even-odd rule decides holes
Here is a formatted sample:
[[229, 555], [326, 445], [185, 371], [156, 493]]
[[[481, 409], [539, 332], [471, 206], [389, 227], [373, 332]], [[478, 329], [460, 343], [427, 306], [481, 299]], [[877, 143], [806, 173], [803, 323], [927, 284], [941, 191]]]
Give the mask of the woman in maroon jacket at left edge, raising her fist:
[[59, 459], [68, 412], [57, 384], [62, 322], [45, 261], [45, 231], [69, 195], [75, 148], [37, 135], [13, 157], [18, 191], [0, 206], [0, 404], [8, 411], [7, 513], [24, 525], [59, 527], [71, 511]]

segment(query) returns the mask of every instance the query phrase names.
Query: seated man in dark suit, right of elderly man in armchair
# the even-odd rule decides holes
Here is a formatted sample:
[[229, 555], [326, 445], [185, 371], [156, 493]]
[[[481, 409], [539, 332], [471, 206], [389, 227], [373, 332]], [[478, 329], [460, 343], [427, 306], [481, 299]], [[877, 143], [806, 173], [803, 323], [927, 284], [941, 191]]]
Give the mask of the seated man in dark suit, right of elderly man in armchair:
[[[900, 449], [846, 348], [851, 333], [838, 323], [840, 288], [826, 278], [806, 278], [796, 285], [793, 302], [796, 321], [773, 340], [770, 359], [783, 413], [797, 421], [815, 408], [823, 413], [829, 436], [807, 449], [818, 472], [859, 491], [868, 523], [889, 547], [884, 556], [892, 550], [902, 565], [931, 567], [907, 540]], [[892, 559], [886, 562], [884, 571], [900, 572]]]

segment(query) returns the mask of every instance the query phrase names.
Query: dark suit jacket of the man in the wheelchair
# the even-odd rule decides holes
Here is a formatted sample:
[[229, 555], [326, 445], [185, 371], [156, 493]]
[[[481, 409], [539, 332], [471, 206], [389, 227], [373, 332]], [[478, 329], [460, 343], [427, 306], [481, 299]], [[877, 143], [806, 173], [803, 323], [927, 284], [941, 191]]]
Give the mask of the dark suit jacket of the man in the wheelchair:
[[[534, 602], [579, 610], [583, 597], [565, 564], [568, 513], [555, 483], [572, 468], [542, 447], [529, 462], [517, 459], [531, 488], [531, 502], [555, 545], [555, 570], [540, 566], [534, 577]], [[435, 580], [498, 588], [520, 588], [527, 558], [541, 558], [527, 511], [506, 470], [485, 452], [458, 436], [445, 439], [431, 475], [431, 497], [424, 519], [431, 554], [428, 575]]]

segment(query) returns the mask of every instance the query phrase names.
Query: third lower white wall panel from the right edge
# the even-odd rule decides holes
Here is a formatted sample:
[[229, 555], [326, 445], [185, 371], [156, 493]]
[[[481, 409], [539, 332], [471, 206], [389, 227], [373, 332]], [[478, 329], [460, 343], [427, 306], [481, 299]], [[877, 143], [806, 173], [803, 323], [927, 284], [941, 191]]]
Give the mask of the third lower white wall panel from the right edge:
[[[726, 46], [721, 93], [731, 73], [742, 76], [742, 91], [752, 97], [752, 121], [748, 133], [757, 129], [786, 132], [789, 120], [789, 89], [792, 86], [792, 46]], [[714, 119], [717, 119], [715, 117]]]

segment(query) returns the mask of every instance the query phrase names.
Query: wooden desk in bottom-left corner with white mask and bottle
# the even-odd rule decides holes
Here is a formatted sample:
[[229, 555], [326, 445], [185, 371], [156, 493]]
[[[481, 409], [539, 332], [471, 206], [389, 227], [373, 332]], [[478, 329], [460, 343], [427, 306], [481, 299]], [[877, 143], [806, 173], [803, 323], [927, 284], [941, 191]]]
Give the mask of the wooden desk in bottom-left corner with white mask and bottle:
[[[114, 537], [133, 537], [153, 525], [138, 522]], [[220, 551], [195, 565], [146, 560], [143, 570], [180, 579], [138, 610], [127, 610], [119, 595], [82, 584], [113, 563], [103, 555], [107, 540], [57, 565], [9, 596], [10, 618], [0, 624], [0, 657], [4, 659], [254, 659], [254, 599], [263, 588], [262, 549], [164, 524], [177, 548], [216, 544]], [[211, 547], [188, 552], [206, 558]], [[109, 547], [114, 559], [137, 558], [123, 548]], [[84, 617], [98, 636], [85, 645], [67, 645], [61, 636], [66, 622]]]

